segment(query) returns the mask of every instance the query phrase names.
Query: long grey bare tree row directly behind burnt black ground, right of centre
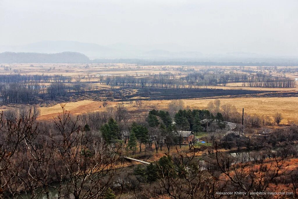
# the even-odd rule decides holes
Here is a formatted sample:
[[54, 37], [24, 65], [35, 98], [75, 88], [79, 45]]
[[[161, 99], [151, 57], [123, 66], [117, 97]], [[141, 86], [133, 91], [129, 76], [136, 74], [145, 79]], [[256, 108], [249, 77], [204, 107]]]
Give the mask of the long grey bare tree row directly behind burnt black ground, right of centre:
[[295, 86], [295, 81], [290, 78], [271, 76], [260, 72], [249, 75], [242, 72], [231, 72], [230, 74], [190, 72], [185, 77], [166, 72], [140, 78], [126, 75], [107, 77], [105, 79], [107, 85], [142, 88], [204, 88], [218, 84], [226, 86], [229, 82], [244, 82], [243, 86], [249, 87], [289, 88]]

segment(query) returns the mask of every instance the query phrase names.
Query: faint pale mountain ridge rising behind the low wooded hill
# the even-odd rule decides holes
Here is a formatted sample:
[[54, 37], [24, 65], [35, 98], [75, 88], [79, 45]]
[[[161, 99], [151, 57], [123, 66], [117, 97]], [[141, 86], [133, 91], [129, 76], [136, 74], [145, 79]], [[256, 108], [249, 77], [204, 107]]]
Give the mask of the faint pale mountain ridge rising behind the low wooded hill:
[[0, 52], [60, 53], [79, 52], [89, 58], [198, 58], [200, 52], [187, 51], [176, 44], [102, 46], [78, 41], [40, 41], [22, 46], [0, 46]]

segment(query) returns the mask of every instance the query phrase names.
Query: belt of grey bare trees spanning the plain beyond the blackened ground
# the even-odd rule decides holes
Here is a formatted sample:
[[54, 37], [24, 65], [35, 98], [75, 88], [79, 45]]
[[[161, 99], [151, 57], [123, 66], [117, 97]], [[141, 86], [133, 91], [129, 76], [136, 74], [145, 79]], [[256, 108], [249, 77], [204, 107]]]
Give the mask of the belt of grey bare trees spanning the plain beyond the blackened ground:
[[[67, 92], [96, 90], [96, 86], [91, 84], [91, 78], [94, 77], [89, 74], [87, 78], [82, 75], [75, 78], [63, 75], [0, 75], [2, 83], [0, 97], [4, 104], [35, 103], [38, 98], [46, 96], [53, 100], [56, 97], [65, 96]], [[89, 82], [81, 82], [82, 79], [88, 79]], [[100, 82], [109, 85], [111, 89], [116, 87], [191, 89], [215, 85], [226, 86], [229, 82], [243, 82], [242, 86], [249, 87], [289, 88], [295, 86], [295, 81], [283, 76], [271, 76], [262, 72], [249, 75], [242, 72], [224, 73], [222, 70], [211, 71], [211, 69], [188, 72], [185, 76], [165, 72], [142, 76], [99, 76], [96, 81], [92, 80], [92, 83]], [[50, 83], [50, 85], [46, 86], [44, 83]]]

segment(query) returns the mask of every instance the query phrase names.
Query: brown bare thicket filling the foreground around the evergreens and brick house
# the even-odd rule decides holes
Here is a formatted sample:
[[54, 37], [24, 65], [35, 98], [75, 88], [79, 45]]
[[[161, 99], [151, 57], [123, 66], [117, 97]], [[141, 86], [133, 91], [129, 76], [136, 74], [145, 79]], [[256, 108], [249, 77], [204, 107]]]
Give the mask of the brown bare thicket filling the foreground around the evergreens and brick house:
[[[220, 107], [218, 101], [215, 104]], [[176, 129], [170, 114], [152, 110], [146, 121], [130, 124], [126, 118], [127, 110], [121, 104], [112, 107], [110, 112], [89, 112], [79, 116], [70, 115], [64, 105], [61, 106], [62, 113], [54, 121], [36, 121], [39, 114], [36, 107], [21, 107], [0, 115], [2, 197], [17, 196], [24, 191], [24, 195], [32, 198], [41, 194], [45, 198], [105, 198], [114, 191], [119, 198], [165, 195], [170, 198], [217, 198], [216, 191], [229, 189], [270, 191], [272, 183], [276, 182], [287, 185], [288, 191], [297, 192], [295, 181], [285, 180], [296, 179], [297, 172], [282, 171], [283, 158], [297, 156], [297, 148], [290, 144], [298, 140], [295, 125], [276, 129], [262, 138], [220, 132], [212, 136], [210, 133], [207, 139], [213, 139], [211, 149], [243, 146], [262, 149], [246, 160], [215, 154], [203, 162], [195, 158], [196, 150], [191, 146], [185, 154], [183, 150], [179, 151], [177, 155], [162, 157], [147, 167], [138, 167], [134, 171], [129, 168], [116, 170], [117, 165], [123, 163], [123, 157], [129, 154], [129, 149], [117, 140], [129, 135], [121, 133], [133, 132], [135, 141], [146, 146], [144, 158], [150, 156], [150, 144], [162, 150], [164, 145], [169, 149], [177, 143], [173, 139], [177, 135], [173, 133]], [[175, 121], [184, 123], [183, 115], [211, 117], [208, 112], [181, 110]], [[115, 120], [111, 121], [111, 118]], [[194, 125], [196, 120], [191, 122]], [[105, 133], [115, 133], [116, 139], [106, 141], [99, 132], [102, 126], [108, 127]], [[134, 144], [136, 142], [131, 146]], [[272, 151], [274, 147], [276, 149]], [[257, 166], [251, 170], [250, 163], [239, 164], [239, 161], [252, 161]], [[257, 178], [260, 172], [261, 181]]]

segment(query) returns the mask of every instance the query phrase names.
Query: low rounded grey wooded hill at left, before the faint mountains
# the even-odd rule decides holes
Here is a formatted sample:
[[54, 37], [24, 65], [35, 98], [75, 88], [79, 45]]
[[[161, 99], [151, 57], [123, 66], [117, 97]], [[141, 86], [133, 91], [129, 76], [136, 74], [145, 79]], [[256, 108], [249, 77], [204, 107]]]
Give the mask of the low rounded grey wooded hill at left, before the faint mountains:
[[0, 63], [89, 63], [89, 58], [77, 52], [62, 53], [0, 53]]

